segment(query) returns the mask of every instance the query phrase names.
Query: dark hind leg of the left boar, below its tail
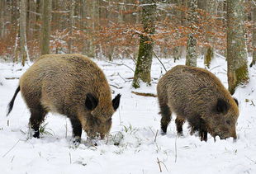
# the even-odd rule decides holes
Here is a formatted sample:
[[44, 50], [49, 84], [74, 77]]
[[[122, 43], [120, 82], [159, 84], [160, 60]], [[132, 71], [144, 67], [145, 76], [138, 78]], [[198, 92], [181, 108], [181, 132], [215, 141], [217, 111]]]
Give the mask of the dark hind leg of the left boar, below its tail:
[[39, 139], [39, 127], [40, 124], [45, 120], [47, 111], [42, 106], [36, 106], [31, 108], [30, 125], [31, 129], [34, 130], [33, 137]]

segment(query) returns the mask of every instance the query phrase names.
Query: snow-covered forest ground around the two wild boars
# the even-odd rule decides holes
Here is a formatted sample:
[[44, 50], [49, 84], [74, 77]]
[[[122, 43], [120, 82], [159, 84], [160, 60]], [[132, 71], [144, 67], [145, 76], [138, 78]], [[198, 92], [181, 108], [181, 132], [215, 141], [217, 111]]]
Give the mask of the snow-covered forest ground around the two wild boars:
[[[121, 105], [113, 115], [111, 135], [90, 146], [85, 142], [78, 148], [71, 142], [69, 120], [62, 115], [49, 114], [45, 120], [44, 135], [28, 139], [30, 113], [19, 93], [12, 113], [6, 117], [7, 103], [17, 88], [18, 79], [29, 65], [0, 63], [0, 173], [256, 173], [256, 68], [249, 68], [251, 81], [239, 87], [235, 97], [239, 100], [238, 139], [220, 140], [209, 136], [201, 142], [190, 135], [184, 126], [184, 137], [178, 138], [174, 118], [166, 135], [159, 134], [160, 115], [157, 98], [136, 96], [131, 93], [131, 79], [135, 68], [131, 60], [114, 63], [96, 61], [111, 84], [113, 96], [121, 93]], [[162, 59], [167, 69], [184, 64], [182, 59]], [[119, 65], [117, 65], [118, 63]], [[198, 66], [203, 67], [201, 59]], [[123, 65], [120, 65], [123, 64]], [[130, 68], [128, 68], [128, 67]], [[215, 73], [227, 87], [225, 59], [216, 58], [211, 64]], [[140, 92], [156, 93], [156, 84], [164, 68], [157, 59], [152, 65], [152, 86]], [[5, 80], [4, 78], [14, 78]], [[116, 88], [118, 87], [118, 88]]]

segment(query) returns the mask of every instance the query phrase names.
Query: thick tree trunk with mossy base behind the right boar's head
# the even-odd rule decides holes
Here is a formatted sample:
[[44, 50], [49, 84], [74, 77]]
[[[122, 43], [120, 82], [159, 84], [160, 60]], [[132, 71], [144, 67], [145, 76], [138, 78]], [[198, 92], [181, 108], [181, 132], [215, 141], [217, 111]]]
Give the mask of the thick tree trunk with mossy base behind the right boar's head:
[[227, 66], [229, 91], [248, 82], [244, 30], [244, 0], [227, 0]]

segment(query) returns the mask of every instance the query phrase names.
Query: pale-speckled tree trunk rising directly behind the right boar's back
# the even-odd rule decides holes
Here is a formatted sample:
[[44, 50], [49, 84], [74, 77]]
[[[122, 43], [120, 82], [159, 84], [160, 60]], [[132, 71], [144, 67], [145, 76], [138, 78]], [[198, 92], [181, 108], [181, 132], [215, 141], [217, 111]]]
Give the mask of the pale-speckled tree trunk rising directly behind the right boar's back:
[[188, 34], [187, 40], [187, 55], [186, 65], [197, 67], [197, 39], [195, 34], [197, 32], [197, 0], [189, 1], [189, 12], [188, 12], [188, 25], [190, 33]]

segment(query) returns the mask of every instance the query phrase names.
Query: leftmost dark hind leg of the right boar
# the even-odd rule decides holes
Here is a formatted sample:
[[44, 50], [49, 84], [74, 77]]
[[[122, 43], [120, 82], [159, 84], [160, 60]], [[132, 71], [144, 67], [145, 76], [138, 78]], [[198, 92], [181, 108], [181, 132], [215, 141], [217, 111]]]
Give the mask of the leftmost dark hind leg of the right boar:
[[161, 105], [160, 113], [162, 115], [162, 119], [161, 119], [162, 134], [166, 134], [168, 124], [171, 121], [172, 112], [170, 111], [170, 109], [167, 105], [164, 105], [164, 106]]

